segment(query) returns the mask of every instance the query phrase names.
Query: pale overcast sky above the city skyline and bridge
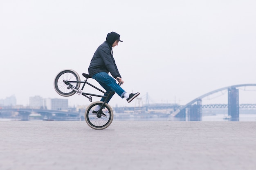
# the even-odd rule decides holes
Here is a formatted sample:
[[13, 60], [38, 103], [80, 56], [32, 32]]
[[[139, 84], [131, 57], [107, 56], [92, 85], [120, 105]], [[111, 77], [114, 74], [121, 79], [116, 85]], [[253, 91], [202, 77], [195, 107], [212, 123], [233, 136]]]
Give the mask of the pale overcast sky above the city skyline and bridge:
[[[255, 0], [0, 0], [0, 99], [90, 104], [77, 94], [59, 96], [54, 77], [69, 68], [84, 80], [111, 31], [124, 41], [113, 49], [122, 87], [141, 92], [143, 102], [148, 93], [150, 103], [184, 105], [215, 89], [256, 83], [255, 7]], [[240, 103], [256, 103], [255, 90], [240, 88]], [[226, 91], [203, 100], [224, 102]], [[115, 95], [109, 104], [138, 103]]]

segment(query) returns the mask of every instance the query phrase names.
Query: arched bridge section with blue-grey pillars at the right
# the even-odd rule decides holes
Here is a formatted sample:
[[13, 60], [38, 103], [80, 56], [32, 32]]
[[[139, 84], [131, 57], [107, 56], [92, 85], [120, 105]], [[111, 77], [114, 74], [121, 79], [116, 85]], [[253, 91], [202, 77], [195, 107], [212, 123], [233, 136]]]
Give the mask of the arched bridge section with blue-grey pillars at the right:
[[[227, 107], [228, 108], [228, 116], [231, 117], [231, 121], [239, 121], [239, 107], [255, 107], [255, 105], [240, 105], [239, 106], [239, 91], [236, 87], [246, 87], [246, 86], [256, 86], [256, 84], [240, 84], [240, 85], [232, 85], [228, 87], [223, 87], [220, 89], [213, 90], [207, 94], [199, 96], [195, 98], [191, 102], [187, 103], [186, 105], [180, 107], [176, 111], [171, 114], [171, 117], [182, 118], [186, 120], [186, 113], [187, 119], [189, 121], [201, 121], [202, 120], [202, 108], [210, 108], [214, 106], [218, 107]], [[211, 94], [228, 90], [228, 104], [227, 105], [202, 105], [202, 98], [207, 97]]]

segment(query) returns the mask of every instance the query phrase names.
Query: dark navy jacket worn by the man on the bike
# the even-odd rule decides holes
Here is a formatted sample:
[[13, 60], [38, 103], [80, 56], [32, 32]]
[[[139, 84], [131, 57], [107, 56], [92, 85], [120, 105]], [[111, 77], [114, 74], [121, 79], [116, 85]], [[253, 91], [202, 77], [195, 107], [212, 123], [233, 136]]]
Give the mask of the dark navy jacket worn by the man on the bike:
[[[111, 39], [110, 43], [113, 44], [115, 40]], [[88, 72], [90, 76], [93, 76], [94, 74], [99, 72], [106, 72], [106, 73], [110, 72], [110, 74], [114, 78], [117, 78], [117, 77], [121, 78], [121, 75], [115, 63], [115, 59], [113, 58], [112, 44], [110, 45], [108, 43], [108, 37], [107, 37], [107, 40], [104, 41], [103, 44], [101, 44], [97, 48], [97, 50], [94, 52], [90, 66], [88, 68]]]

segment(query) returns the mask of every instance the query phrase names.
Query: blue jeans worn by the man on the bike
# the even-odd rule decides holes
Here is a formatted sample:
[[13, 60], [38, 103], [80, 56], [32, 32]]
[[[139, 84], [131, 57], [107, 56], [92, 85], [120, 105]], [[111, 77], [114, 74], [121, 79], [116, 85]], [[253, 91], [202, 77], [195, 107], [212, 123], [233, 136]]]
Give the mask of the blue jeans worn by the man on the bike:
[[[116, 82], [116, 80], [114, 78], [112, 78], [110, 75], [108, 75], [108, 73], [106, 72], [99, 72], [96, 73], [92, 76], [93, 79], [95, 79], [97, 82], [99, 82], [99, 84], [101, 85], [101, 87], [103, 87], [107, 93], [109, 93], [110, 91], [112, 92], [116, 92], [118, 94], [118, 96], [120, 96], [121, 98], [124, 98], [124, 94], [126, 93], [124, 91], [124, 89], [122, 89]], [[110, 98], [107, 100], [107, 103], [109, 102], [109, 100], [113, 97], [114, 94], [112, 94], [110, 96]], [[104, 94], [104, 96], [107, 96], [106, 94]], [[105, 101], [106, 98], [101, 98], [101, 101]]]

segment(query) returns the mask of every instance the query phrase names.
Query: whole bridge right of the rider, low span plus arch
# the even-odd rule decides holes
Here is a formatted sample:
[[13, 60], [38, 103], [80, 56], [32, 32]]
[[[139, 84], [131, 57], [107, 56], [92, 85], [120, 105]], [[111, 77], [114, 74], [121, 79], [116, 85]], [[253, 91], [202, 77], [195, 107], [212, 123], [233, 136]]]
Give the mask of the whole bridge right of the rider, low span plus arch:
[[[239, 90], [237, 87], [247, 87], [247, 86], [256, 86], [256, 84], [241, 84], [241, 85], [232, 85], [228, 87], [223, 87], [220, 89], [213, 90], [207, 94], [199, 96], [187, 103], [186, 105], [177, 105], [177, 104], [146, 104], [142, 107], [117, 107], [114, 108], [116, 113], [125, 113], [125, 112], [137, 112], [137, 113], [150, 113], [154, 112], [163, 112], [165, 109], [171, 114], [169, 119], [179, 118], [179, 120], [188, 120], [188, 121], [202, 121], [202, 109], [203, 108], [227, 108], [228, 109], [228, 118], [231, 121], [239, 121], [239, 109], [240, 108], [256, 108], [256, 104], [241, 104], [239, 105]], [[228, 91], [228, 104], [209, 104], [202, 105], [202, 98], [210, 96], [211, 94], [222, 92], [223, 90]], [[172, 109], [172, 110], [168, 110]]]

